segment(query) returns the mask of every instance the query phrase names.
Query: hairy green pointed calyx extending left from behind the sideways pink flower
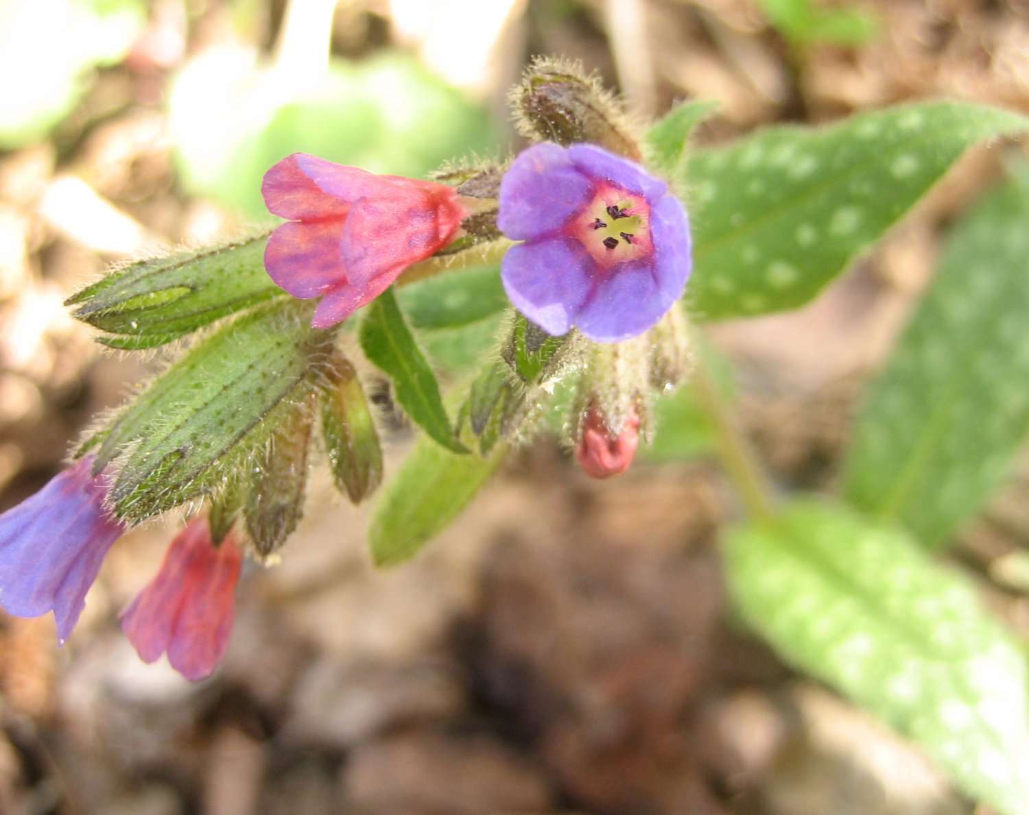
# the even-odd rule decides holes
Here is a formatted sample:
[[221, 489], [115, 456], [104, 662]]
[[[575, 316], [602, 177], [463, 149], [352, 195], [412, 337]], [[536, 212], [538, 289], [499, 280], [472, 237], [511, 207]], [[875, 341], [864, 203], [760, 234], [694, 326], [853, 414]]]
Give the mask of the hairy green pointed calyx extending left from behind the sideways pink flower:
[[202, 253], [133, 263], [70, 297], [74, 317], [116, 337], [118, 348], [152, 348], [282, 294], [264, 271], [268, 235]]

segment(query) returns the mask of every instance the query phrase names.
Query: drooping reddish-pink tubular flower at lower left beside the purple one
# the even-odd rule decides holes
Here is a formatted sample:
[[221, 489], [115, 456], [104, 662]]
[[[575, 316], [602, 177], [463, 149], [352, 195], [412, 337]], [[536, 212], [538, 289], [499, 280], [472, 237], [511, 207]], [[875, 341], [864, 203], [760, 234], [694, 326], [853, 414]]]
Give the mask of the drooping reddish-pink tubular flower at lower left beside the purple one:
[[207, 518], [168, 547], [165, 562], [121, 613], [121, 630], [140, 659], [168, 661], [187, 679], [209, 676], [228, 646], [243, 553], [232, 532], [215, 548]]

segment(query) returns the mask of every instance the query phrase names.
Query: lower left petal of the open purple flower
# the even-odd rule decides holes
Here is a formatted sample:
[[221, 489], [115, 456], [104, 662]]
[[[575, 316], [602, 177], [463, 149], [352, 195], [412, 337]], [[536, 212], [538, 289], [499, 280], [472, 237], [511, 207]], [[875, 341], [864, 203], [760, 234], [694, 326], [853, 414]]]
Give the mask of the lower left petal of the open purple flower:
[[500, 269], [514, 307], [548, 334], [564, 334], [576, 322], [596, 273], [593, 258], [570, 237], [511, 247]]

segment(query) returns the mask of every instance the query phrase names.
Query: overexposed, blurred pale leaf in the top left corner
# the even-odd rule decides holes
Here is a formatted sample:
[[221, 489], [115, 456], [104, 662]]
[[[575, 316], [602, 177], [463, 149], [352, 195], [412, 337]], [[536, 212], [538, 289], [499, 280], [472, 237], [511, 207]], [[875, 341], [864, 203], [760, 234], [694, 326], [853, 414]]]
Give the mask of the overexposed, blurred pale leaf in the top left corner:
[[74, 107], [90, 69], [121, 60], [145, 20], [142, 0], [0, 2], [0, 147], [44, 137]]

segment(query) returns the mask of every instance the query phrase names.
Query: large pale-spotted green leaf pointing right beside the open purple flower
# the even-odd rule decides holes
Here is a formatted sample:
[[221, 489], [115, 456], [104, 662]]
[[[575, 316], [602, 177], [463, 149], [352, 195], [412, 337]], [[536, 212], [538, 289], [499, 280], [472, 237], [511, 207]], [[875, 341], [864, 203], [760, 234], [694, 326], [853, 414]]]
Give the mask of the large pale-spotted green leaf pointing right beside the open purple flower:
[[694, 310], [716, 319], [803, 305], [966, 149], [1027, 128], [1012, 111], [927, 102], [829, 127], [773, 127], [691, 153]]

